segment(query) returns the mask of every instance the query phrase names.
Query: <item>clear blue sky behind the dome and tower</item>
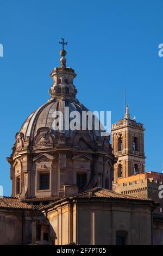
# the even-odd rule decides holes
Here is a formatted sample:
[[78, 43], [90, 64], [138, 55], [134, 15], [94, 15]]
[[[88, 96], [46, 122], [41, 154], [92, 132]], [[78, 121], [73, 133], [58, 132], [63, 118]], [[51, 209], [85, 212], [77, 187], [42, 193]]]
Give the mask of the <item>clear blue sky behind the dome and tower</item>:
[[0, 185], [10, 195], [10, 156], [24, 119], [49, 98], [49, 73], [68, 41], [67, 65], [77, 73], [78, 99], [87, 108], [144, 124], [146, 170], [162, 170], [163, 2], [161, 0], [1, 0]]

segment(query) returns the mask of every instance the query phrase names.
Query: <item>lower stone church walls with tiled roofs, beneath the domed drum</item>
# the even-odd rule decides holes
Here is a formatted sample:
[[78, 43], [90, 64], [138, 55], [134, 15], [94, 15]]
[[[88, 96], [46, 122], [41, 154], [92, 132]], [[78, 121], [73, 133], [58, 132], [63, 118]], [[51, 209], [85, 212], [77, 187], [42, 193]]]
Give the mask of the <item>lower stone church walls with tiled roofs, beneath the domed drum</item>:
[[0, 245], [151, 245], [156, 206], [99, 187], [48, 205], [0, 198]]

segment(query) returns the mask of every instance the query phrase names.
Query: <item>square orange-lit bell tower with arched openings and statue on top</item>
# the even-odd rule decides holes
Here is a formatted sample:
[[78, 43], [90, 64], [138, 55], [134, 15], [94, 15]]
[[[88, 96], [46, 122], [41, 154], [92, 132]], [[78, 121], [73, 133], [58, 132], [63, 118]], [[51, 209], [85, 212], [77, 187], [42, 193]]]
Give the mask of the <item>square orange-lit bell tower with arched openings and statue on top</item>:
[[145, 172], [143, 124], [130, 119], [126, 106], [124, 118], [112, 125], [112, 148], [117, 157], [114, 164], [114, 183], [117, 179]]

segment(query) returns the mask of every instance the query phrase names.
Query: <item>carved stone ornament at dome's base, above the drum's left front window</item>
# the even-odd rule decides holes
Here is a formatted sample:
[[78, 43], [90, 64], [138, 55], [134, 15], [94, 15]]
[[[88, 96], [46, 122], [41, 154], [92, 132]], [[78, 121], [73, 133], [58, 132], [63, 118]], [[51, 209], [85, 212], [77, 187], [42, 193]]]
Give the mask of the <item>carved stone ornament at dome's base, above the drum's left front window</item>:
[[34, 143], [37, 146], [53, 144], [52, 131], [48, 127], [41, 127], [37, 130]]

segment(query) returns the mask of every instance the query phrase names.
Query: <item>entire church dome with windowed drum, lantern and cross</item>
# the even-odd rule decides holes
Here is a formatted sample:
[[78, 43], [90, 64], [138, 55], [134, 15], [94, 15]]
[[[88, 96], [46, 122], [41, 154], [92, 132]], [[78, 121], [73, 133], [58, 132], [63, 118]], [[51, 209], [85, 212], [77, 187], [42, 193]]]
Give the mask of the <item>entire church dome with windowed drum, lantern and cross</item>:
[[115, 158], [110, 136], [101, 134], [104, 130], [94, 114], [92, 119], [87, 116], [88, 109], [76, 98], [76, 74], [66, 66], [64, 47], [60, 55], [60, 66], [51, 72], [50, 99], [24, 121], [7, 158], [12, 196], [23, 200], [112, 188]]

